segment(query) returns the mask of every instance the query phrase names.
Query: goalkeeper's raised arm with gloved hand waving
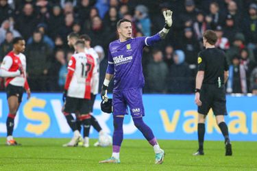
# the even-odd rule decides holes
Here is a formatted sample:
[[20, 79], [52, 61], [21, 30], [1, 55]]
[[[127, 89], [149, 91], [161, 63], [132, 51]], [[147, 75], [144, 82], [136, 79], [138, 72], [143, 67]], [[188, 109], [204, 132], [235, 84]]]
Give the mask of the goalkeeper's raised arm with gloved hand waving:
[[162, 14], [165, 18], [164, 28], [161, 31], [159, 31], [157, 34], [155, 34], [154, 36], [145, 38], [145, 44], [147, 46], [151, 46], [154, 43], [159, 42], [160, 40], [164, 39], [167, 36], [167, 34], [169, 33], [169, 29], [171, 29], [172, 11], [167, 10], [167, 11], [164, 11]]

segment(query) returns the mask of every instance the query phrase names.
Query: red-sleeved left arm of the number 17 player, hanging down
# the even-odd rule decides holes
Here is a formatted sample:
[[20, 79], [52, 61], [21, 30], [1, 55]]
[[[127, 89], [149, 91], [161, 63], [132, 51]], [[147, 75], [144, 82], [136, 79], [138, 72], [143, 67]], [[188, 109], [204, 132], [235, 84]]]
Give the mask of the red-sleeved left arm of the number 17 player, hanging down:
[[71, 79], [72, 79], [74, 71], [75, 71], [75, 66], [76, 66], [76, 60], [72, 56], [71, 60], [69, 61], [69, 64], [68, 64], [68, 73], [67, 73], [66, 81], [65, 81], [65, 85], [64, 85], [64, 92], [63, 92], [63, 95], [62, 95], [62, 101], [66, 100], [67, 92], [68, 92], [69, 86], [71, 84]]

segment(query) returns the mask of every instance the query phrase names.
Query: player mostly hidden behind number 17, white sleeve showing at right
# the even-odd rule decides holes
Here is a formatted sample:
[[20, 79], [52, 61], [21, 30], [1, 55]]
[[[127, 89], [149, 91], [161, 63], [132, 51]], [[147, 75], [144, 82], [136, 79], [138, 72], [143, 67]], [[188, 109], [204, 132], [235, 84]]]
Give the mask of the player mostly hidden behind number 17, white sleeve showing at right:
[[[94, 129], [97, 130], [99, 135], [103, 135], [104, 134], [103, 129], [101, 129], [99, 123], [97, 122], [97, 119], [92, 115], [93, 114], [93, 106], [95, 103], [95, 97], [97, 96], [98, 90], [99, 90], [99, 57], [97, 55], [97, 52], [90, 46], [91, 38], [88, 35], [83, 34], [83, 35], [79, 36], [79, 39], [84, 40], [84, 42], [85, 42], [86, 54], [91, 55], [95, 60], [95, 67], [97, 68], [97, 72], [95, 73], [95, 75], [93, 75], [92, 81], [91, 81], [91, 99], [90, 99], [91, 118], [90, 118], [90, 123], [94, 127]], [[98, 145], [99, 145], [99, 142], [96, 142], [94, 144], [94, 146], [98, 146]], [[88, 137], [84, 138], [84, 146], [86, 146], [86, 147], [89, 146], [89, 138]]]

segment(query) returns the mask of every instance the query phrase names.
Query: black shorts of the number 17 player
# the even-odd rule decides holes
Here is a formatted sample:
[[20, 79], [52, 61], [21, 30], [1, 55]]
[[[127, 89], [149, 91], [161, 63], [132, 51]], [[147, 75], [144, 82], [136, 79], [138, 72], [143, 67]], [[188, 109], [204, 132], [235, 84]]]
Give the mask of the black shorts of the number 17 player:
[[75, 98], [67, 96], [64, 103], [64, 111], [67, 113], [89, 114], [90, 100], [85, 98]]

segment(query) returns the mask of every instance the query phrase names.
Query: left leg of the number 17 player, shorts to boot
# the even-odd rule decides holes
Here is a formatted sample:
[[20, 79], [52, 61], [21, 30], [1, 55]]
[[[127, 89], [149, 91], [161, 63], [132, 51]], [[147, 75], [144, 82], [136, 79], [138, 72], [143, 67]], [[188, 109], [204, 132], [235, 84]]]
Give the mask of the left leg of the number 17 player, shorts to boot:
[[63, 114], [66, 118], [67, 123], [71, 127], [71, 130], [73, 131], [73, 137], [69, 143], [64, 144], [63, 146], [77, 146], [77, 143], [82, 139], [82, 136], [79, 130], [77, 129], [76, 120], [71, 115], [77, 111], [77, 103], [77, 98], [71, 98], [69, 96], [67, 96], [66, 101], [64, 103]]

